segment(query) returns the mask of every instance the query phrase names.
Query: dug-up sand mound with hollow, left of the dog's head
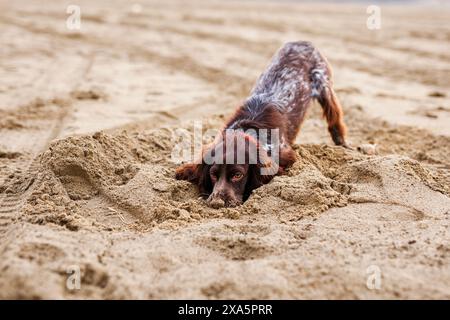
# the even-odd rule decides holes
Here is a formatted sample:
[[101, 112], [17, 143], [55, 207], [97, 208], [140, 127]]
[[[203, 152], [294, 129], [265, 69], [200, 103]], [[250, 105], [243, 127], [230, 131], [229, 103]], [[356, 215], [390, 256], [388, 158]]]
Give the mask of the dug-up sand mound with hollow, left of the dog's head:
[[31, 222], [57, 223], [71, 230], [187, 219], [179, 199], [197, 196], [192, 186], [172, 178], [171, 163], [158, 163], [169, 157], [168, 141], [167, 132], [96, 133], [53, 143], [40, 156], [26, 216]]

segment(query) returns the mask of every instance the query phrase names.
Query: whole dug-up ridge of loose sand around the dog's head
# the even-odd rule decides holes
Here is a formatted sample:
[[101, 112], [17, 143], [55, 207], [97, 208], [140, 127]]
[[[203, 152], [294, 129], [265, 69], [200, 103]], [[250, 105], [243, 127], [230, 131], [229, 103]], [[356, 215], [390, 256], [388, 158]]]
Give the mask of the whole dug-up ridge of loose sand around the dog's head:
[[296, 150], [299, 159], [287, 175], [255, 190], [240, 207], [215, 210], [193, 185], [174, 179], [168, 131], [70, 137], [41, 155], [24, 217], [70, 230], [116, 230], [255, 214], [295, 221], [348, 203], [390, 203], [431, 216], [449, 207], [443, 187], [409, 158], [327, 145]]

